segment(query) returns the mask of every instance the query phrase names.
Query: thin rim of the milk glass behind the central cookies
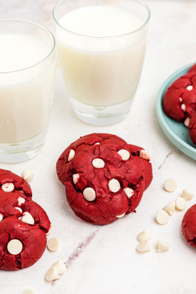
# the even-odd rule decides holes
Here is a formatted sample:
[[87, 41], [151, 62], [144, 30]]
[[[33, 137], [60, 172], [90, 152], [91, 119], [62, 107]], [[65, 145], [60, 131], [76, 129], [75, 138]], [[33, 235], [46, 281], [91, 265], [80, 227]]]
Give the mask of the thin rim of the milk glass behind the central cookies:
[[[82, 37], [86, 37], [86, 38], [94, 38], [94, 39], [110, 39], [110, 38], [117, 38], [117, 37], [122, 37], [122, 36], [128, 36], [128, 35], [130, 35], [130, 34], [133, 34], [133, 33], [137, 32], [137, 31], [140, 31], [141, 29], [143, 29], [143, 27], [145, 27], [145, 25], [148, 23], [148, 21], [149, 21], [149, 19], [150, 19], [150, 9], [149, 9], [148, 5], [145, 4], [145, 2], [142, 1], [142, 0], [132, 0], [132, 1], [135, 1], [135, 2], [138, 2], [138, 3], [142, 4], [142, 5], [145, 7], [145, 9], [147, 10], [147, 13], [148, 13], [147, 20], [146, 20], [145, 23], [144, 23], [142, 26], [140, 26], [138, 29], [135, 29], [134, 31], [130, 31], [130, 32], [125, 33], [125, 34], [116, 35], [116, 36], [108, 36], [108, 37], [95, 37], [95, 36], [82, 35], [82, 34], [75, 33], [75, 32], [73, 32], [73, 31], [69, 31], [68, 29], [66, 29], [66, 28], [64, 28], [63, 26], [61, 26], [61, 25], [58, 23], [58, 21], [56, 20], [56, 18], [55, 18], [55, 10], [56, 10], [56, 8], [57, 8], [62, 2], [64, 2], [64, 1], [67, 1], [67, 0], [60, 0], [60, 1], [54, 6], [54, 8], [53, 8], [53, 10], [52, 10], [53, 20], [55, 21], [55, 23], [56, 23], [61, 29], [65, 30], [65, 31], [67, 31], [67, 32], [69, 32], [69, 33], [71, 33], [71, 34], [74, 34], [74, 35], [76, 35], [76, 36], [82, 36]], [[128, 0], [128, 1], [129, 1], [129, 0]], [[106, 4], [106, 5], [107, 5], [107, 4]]]

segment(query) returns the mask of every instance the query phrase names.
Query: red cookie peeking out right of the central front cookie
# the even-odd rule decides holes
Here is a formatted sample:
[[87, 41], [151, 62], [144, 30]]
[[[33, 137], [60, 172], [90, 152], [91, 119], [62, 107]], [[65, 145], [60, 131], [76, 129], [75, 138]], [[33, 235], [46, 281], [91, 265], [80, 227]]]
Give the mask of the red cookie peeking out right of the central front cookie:
[[141, 147], [129, 144], [129, 149], [131, 155], [135, 156], [136, 161], [138, 162], [140, 168], [143, 170], [145, 183], [144, 190], [146, 190], [150, 186], [150, 183], [153, 179], [152, 164], [149, 162], [150, 156]]

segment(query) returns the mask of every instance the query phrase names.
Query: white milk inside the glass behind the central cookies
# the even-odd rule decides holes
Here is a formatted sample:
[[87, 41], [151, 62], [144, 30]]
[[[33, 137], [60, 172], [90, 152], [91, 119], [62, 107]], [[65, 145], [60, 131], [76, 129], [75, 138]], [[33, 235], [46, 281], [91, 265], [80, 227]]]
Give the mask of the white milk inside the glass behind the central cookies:
[[143, 18], [128, 9], [97, 5], [72, 10], [58, 23], [66, 29], [58, 26], [56, 35], [69, 95], [98, 107], [133, 98], [143, 64], [145, 31], [129, 33], [143, 26]]

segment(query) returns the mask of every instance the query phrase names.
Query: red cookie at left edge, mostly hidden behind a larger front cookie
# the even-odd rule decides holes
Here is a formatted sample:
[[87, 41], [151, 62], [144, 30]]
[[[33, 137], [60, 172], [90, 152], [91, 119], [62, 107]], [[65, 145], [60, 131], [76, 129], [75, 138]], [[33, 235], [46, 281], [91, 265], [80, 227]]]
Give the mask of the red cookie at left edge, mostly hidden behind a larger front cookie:
[[29, 184], [15, 173], [5, 169], [0, 169], [0, 191], [2, 190], [20, 194], [25, 199], [32, 197]]

